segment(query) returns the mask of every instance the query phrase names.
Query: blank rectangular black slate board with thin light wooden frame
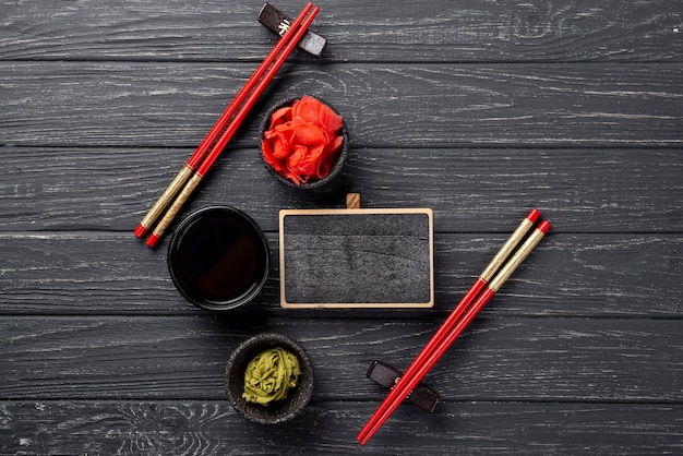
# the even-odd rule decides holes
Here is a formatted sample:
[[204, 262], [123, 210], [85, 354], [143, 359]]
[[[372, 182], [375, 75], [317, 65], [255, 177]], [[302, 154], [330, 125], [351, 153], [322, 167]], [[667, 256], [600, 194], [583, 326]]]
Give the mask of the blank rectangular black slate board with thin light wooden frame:
[[280, 211], [280, 304], [433, 305], [432, 212]]

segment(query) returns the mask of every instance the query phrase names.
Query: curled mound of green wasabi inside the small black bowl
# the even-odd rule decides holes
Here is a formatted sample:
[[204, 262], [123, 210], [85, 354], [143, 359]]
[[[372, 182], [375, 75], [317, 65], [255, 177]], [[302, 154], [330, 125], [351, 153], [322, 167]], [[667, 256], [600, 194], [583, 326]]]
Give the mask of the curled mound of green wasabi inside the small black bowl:
[[287, 398], [301, 374], [299, 359], [284, 348], [271, 348], [259, 353], [247, 365], [244, 393], [249, 403], [268, 405]]

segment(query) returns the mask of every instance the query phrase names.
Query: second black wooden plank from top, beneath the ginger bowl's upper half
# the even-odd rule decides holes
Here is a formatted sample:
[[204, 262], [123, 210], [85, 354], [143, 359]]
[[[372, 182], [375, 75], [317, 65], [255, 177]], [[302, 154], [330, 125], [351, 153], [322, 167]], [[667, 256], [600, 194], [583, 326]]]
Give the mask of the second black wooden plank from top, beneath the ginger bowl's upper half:
[[[3, 144], [195, 147], [255, 69], [241, 63], [12, 62]], [[680, 146], [679, 64], [289, 64], [265, 107], [311, 94], [354, 146]], [[21, 75], [21, 77], [17, 77]], [[361, 101], [359, 101], [361, 100]]]

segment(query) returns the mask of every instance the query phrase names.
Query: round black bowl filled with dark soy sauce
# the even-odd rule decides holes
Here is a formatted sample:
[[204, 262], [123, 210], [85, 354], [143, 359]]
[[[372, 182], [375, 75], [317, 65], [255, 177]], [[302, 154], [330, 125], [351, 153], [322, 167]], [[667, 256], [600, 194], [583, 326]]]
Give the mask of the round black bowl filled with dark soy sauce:
[[176, 229], [168, 269], [178, 291], [208, 310], [244, 305], [268, 277], [271, 252], [259, 225], [228, 206], [204, 207]]

